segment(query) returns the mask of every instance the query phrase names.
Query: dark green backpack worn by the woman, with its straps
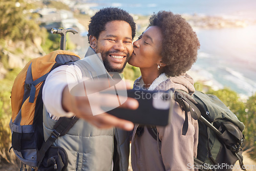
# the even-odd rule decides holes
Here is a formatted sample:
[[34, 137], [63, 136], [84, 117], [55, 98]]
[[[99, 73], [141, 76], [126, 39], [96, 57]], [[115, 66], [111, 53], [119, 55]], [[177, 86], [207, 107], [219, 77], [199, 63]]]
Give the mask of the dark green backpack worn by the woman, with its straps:
[[[198, 119], [199, 142], [194, 168], [232, 170], [239, 160], [240, 168], [246, 170], [242, 156], [242, 132], [245, 126], [237, 116], [215, 95], [196, 91], [190, 96], [181, 90], [176, 90], [174, 94], [175, 101], [182, 106], [186, 115], [182, 135], [186, 134], [188, 127], [187, 112], [190, 111], [191, 116]], [[148, 126], [147, 129], [157, 140], [156, 126]]]

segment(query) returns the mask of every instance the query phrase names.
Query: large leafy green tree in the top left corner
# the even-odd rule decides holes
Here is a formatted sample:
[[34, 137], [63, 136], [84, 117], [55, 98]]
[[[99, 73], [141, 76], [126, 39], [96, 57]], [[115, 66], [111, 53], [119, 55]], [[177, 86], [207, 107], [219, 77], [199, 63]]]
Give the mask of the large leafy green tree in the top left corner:
[[31, 7], [24, 0], [0, 0], [0, 38], [30, 44], [41, 36], [40, 27], [30, 19], [36, 15], [28, 12]]

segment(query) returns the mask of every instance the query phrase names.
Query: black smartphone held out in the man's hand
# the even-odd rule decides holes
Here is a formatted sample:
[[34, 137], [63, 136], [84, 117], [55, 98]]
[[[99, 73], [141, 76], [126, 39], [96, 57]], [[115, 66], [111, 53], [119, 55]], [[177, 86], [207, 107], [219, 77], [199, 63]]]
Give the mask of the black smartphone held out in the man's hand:
[[[173, 114], [174, 92], [173, 91], [148, 91], [148, 90], [124, 90], [127, 97], [138, 100], [137, 110], [115, 108], [107, 113], [118, 118], [130, 120], [133, 123], [144, 125], [165, 126], [170, 122]], [[120, 93], [119, 93], [120, 94]], [[122, 94], [122, 93], [121, 93]], [[125, 94], [125, 93], [124, 93]], [[105, 110], [104, 106], [101, 107]]]

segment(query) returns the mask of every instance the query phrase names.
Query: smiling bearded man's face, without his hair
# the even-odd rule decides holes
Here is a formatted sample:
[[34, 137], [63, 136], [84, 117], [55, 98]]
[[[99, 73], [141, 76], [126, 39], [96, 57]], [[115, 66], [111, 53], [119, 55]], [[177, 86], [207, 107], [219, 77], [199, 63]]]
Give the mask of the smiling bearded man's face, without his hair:
[[98, 39], [92, 36], [91, 47], [101, 53], [108, 72], [121, 73], [133, 53], [132, 28], [122, 20], [108, 22]]

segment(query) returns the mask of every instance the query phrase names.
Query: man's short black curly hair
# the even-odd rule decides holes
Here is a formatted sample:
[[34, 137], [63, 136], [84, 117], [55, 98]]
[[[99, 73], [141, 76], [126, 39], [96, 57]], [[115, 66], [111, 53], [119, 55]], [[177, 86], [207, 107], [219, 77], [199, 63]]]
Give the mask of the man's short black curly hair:
[[114, 20], [123, 20], [124, 22], [127, 22], [132, 28], [132, 38], [134, 38], [136, 33], [136, 24], [133, 17], [120, 8], [108, 7], [100, 9], [91, 17], [87, 34], [88, 40], [90, 35], [95, 36], [98, 39], [100, 32], [105, 30], [106, 23]]

